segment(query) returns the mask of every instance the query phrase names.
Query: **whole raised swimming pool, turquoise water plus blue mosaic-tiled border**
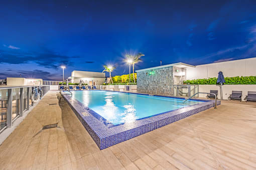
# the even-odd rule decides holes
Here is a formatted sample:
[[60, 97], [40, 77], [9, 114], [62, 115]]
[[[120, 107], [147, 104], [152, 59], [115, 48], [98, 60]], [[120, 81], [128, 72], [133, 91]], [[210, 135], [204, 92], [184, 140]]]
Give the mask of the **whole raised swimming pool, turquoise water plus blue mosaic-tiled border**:
[[[120, 143], [214, 106], [213, 100], [106, 90], [62, 96], [100, 149]], [[220, 101], [217, 101], [217, 105]]]

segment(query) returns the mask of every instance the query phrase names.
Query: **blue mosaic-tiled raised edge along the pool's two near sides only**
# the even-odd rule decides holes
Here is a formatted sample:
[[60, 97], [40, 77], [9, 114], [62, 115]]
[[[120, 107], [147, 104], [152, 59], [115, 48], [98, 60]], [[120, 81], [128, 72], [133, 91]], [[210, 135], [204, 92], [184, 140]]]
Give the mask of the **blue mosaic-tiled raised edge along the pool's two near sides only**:
[[[111, 145], [120, 143], [122, 141], [131, 139], [133, 137], [139, 136], [146, 132], [152, 131], [154, 129], [160, 128], [172, 122], [178, 121], [190, 115], [196, 114], [208, 108], [214, 106], [214, 101], [212, 100], [204, 100], [202, 104], [196, 104], [190, 106], [192, 109], [187, 110], [185, 112], [181, 112], [182, 109], [175, 110], [175, 114], [171, 116], [167, 116], [168, 113], [174, 112], [170, 111], [168, 113], [164, 113], [161, 115], [145, 118], [143, 120], [137, 120], [138, 122], [143, 122], [142, 124], [137, 124], [137, 127], [127, 128], [123, 127], [123, 125], [114, 126], [113, 128], [108, 128], [101, 122], [97, 122], [98, 120], [92, 115], [85, 117], [82, 115], [82, 111], [86, 109], [82, 103], [79, 101], [75, 101], [69, 95], [62, 95], [65, 100], [68, 102], [69, 106], [72, 108], [79, 121], [83, 124], [85, 129], [91, 135], [92, 139], [96, 142], [97, 146], [100, 149], [107, 148]], [[167, 96], [170, 97], [170, 96]], [[76, 103], [77, 102], [77, 103]], [[217, 105], [220, 104], [220, 101], [217, 101]], [[156, 118], [157, 117], [157, 118]], [[147, 121], [147, 119], [151, 119], [151, 121]], [[152, 120], [153, 119], [153, 120]], [[156, 120], [155, 120], [156, 119]], [[96, 122], [95, 122], [96, 121]]]

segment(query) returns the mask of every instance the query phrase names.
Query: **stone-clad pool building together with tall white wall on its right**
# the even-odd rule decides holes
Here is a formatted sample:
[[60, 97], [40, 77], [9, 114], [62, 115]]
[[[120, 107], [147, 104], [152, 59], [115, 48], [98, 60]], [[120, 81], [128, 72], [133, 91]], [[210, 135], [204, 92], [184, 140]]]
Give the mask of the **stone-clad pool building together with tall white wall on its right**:
[[[174, 85], [184, 80], [218, 77], [222, 71], [225, 77], [256, 76], [256, 57], [203, 65], [173, 63], [136, 70], [137, 91], [148, 94], [173, 95]], [[209, 91], [209, 90], [208, 90]]]

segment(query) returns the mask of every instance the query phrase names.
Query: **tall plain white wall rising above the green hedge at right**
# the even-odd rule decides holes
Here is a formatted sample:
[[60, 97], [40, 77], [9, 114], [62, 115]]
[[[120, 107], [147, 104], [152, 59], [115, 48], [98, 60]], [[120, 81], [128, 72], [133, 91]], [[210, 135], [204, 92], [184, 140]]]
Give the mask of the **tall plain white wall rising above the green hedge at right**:
[[219, 71], [223, 72], [224, 77], [255, 76], [255, 66], [256, 57], [196, 65], [196, 67], [187, 67], [186, 79], [218, 77]]

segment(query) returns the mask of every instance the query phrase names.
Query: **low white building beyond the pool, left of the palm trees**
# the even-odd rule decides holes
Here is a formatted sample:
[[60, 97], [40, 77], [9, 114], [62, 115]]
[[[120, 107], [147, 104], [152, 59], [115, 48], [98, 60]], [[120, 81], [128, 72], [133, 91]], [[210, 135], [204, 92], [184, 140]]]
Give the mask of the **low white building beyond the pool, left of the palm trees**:
[[79, 83], [80, 80], [82, 80], [88, 85], [101, 85], [105, 82], [105, 72], [74, 70], [72, 71], [71, 76], [68, 78], [71, 79], [72, 83]]

